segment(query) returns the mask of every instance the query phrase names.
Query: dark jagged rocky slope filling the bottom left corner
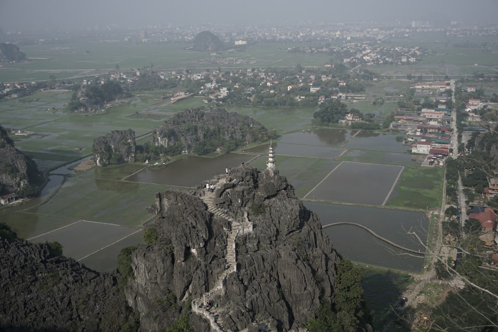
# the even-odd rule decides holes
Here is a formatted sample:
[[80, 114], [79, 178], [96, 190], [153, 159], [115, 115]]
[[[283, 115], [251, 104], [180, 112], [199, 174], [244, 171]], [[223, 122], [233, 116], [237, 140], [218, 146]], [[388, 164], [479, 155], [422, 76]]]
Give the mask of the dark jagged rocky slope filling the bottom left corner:
[[117, 276], [53, 256], [47, 244], [0, 238], [0, 331], [120, 331], [133, 312]]

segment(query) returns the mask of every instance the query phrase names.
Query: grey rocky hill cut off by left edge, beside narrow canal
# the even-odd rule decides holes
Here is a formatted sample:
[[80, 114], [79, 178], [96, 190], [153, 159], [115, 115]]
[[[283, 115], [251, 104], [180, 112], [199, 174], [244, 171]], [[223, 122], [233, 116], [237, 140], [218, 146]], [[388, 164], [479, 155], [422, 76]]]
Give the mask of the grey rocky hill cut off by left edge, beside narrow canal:
[[34, 161], [14, 147], [0, 126], [0, 193], [14, 192], [34, 181], [38, 174]]

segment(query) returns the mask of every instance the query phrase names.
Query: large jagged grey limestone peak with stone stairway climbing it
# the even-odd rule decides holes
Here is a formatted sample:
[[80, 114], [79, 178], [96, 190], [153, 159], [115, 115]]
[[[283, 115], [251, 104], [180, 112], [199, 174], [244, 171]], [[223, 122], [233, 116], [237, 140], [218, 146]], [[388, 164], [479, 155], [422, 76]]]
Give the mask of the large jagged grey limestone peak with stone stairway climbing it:
[[213, 193], [203, 183], [156, 195], [158, 238], [132, 254], [125, 288], [142, 329], [164, 328], [190, 302], [195, 331], [297, 331], [320, 301], [334, 303], [339, 258], [317, 215], [276, 169], [229, 177], [210, 180]]

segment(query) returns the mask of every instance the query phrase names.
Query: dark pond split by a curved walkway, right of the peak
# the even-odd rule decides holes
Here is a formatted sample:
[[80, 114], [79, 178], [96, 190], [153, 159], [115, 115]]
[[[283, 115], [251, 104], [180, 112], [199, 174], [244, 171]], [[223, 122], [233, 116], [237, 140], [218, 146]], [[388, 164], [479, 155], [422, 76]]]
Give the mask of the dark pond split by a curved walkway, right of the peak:
[[[427, 240], [429, 221], [422, 212], [316, 202], [304, 202], [304, 205], [320, 216], [322, 225], [341, 221], [355, 222], [368, 226], [396, 244], [413, 250], [425, 250], [415, 237], [407, 234], [411, 229], [423, 241]], [[410, 272], [420, 272], [423, 268], [423, 258], [392, 247], [357, 226], [332, 226], [325, 228], [325, 232], [334, 247], [347, 259]]]

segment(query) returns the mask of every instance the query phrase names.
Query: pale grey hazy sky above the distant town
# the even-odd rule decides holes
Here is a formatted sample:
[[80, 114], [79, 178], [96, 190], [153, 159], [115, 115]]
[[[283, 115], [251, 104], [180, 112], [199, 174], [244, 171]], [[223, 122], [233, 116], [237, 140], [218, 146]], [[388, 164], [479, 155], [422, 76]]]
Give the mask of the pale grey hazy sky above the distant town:
[[0, 28], [147, 24], [498, 21], [498, 0], [0, 0]]

